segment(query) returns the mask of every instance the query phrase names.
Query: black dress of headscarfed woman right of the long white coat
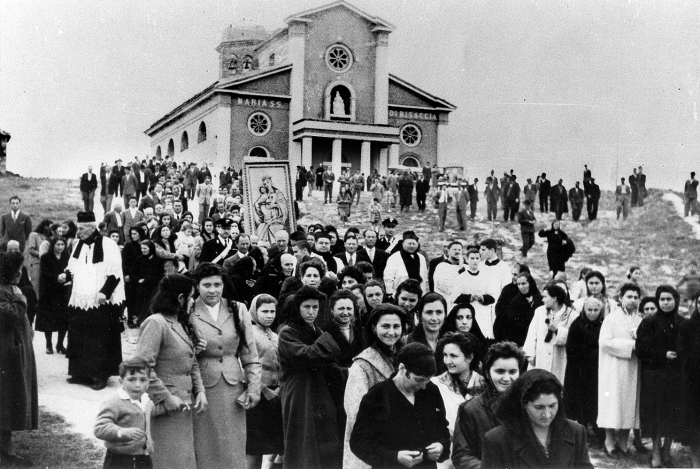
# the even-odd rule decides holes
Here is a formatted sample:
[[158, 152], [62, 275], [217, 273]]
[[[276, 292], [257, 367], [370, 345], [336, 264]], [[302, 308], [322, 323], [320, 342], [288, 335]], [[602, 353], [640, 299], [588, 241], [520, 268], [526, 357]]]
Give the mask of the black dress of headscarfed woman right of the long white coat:
[[682, 321], [678, 314], [659, 311], [644, 318], [637, 329], [635, 349], [642, 368], [639, 420], [644, 436], [653, 438], [658, 432], [674, 439], [684, 436], [678, 425], [684, 419], [680, 362], [666, 358], [666, 352], [676, 350]]

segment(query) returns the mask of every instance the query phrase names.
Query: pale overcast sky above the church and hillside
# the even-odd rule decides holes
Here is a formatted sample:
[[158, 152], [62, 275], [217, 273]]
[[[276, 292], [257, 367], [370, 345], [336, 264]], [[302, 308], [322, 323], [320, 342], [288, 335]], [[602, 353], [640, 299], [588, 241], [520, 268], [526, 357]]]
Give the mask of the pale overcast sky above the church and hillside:
[[[218, 78], [223, 28], [322, 0], [0, 0], [8, 169], [79, 177], [150, 152], [143, 133]], [[700, 170], [700, 0], [352, 0], [394, 24], [391, 73], [455, 104], [446, 164], [651, 187]]]

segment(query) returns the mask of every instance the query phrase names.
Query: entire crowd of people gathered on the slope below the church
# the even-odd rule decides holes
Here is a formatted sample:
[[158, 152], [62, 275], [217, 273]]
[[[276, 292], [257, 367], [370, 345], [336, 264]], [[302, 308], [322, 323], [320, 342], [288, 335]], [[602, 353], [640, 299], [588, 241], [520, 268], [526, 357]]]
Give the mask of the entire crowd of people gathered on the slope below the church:
[[[426, 169], [415, 184], [399, 179], [417, 188], [433, 177]], [[553, 252], [551, 279], [538, 284], [527, 265], [502, 259], [495, 239], [449, 241], [430, 259], [392, 217], [343, 236], [328, 224], [280, 230], [270, 245], [244, 232], [238, 173], [223, 172], [220, 197], [207, 202], [205, 171], [168, 159], [103, 166], [102, 223], [89, 210], [96, 186], [82, 184], [91, 169], [75, 222], [42, 220], [32, 231], [12, 197], [0, 226], [3, 461], [27, 462], [12, 432], [38, 425], [35, 328], [49, 354], [57, 333], [69, 382], [100, 390], [120, 377], [95, 423], [104, 467], [592, 467], [591, 444], [671, 467], [673, 441], [700, 467], [697, 273], [679, 279], [683, 300], [674, 286], [645, 291], [638, 267], [614, 293], [592, 268], [567, 278], [574, 248], [558, 220], [562, 201], [573, 202], [561, 181], [555, 199], [542, 197], [544, 174], [523, 192], [525, 211], [539, 191], [540, 210], [552, 202], [557, 218], [539, 233]], [[646, 196], [641, 168], [635, 176], [634, 206]], [[350, 206], [365, 188], [386, 203], [375, 192], [392, 191], [389, 177], [357, 188], [350, 179], [338, 197], [347, 192]], [[517, 178], [504, 179], [490, 176], [486, 190], [505, 193], [504, 217], [522, 226]], [[455, 199], [466, 227], [478, 181], [455, 183], [462, 192], [435, 182], [441, 228]], [[582, 197], [594, 184], [588, 172]], [[198, 220], [187, 211], [195, 197]], [[125, 327], [139, 328], [128, 360]]]

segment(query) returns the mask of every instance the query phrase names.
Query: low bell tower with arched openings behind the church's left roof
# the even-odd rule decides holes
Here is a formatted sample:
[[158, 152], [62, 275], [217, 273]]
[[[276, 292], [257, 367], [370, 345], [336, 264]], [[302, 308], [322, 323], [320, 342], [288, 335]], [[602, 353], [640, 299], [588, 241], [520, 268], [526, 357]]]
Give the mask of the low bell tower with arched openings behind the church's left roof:
[[258, 68], [255, 48], [268, 38], [262, 26], [229, 25], [224, 28], [219, 53], [219, 78], [243, 75]]

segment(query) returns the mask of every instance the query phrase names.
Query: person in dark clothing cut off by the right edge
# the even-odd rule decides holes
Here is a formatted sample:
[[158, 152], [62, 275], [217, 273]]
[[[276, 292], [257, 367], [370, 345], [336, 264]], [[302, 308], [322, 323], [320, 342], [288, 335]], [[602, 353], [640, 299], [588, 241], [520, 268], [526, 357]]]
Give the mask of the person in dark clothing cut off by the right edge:
[[678, 328], [678, 361], [681, 365], [681, 402], [684, 409], [683, 444], [690, 445], [693, 467], [700, 467], [700, 295], [687, 321]]

